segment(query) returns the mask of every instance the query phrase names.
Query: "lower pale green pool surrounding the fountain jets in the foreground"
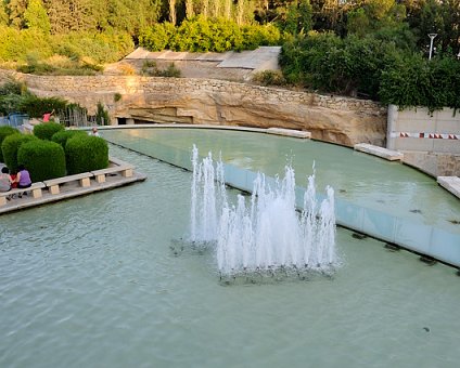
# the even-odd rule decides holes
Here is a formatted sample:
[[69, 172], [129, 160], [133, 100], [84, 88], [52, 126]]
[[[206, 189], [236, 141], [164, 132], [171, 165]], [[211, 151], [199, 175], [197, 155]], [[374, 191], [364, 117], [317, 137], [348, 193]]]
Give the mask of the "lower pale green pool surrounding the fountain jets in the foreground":
[[453, 268], [338, 228], [334, 277], [223, 286], [214, 251], [171, 251], [191, 173], [111, 154], [149, 179], [1, 216], [0, 367], [458, 364]]

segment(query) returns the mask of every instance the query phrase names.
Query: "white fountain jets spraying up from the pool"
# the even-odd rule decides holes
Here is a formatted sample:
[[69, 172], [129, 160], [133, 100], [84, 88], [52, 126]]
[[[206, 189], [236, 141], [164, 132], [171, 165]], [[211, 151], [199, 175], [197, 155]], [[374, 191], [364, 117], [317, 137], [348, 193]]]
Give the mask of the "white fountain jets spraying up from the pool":
[[308, 178], [301, 213], [295, 206], [295, 174], [285, 167], [274, 187], [258, 173], [251, 203], [238, 195], [237, 206], [226, 196], [223, 165], [209, 153], [199, 162], [192, 150], [191, 241], [214, 242], [221, 275], [268, 273], [329, 273], [338, 264], [335, 253], [334, 190], [317, 202], [315, 173]]

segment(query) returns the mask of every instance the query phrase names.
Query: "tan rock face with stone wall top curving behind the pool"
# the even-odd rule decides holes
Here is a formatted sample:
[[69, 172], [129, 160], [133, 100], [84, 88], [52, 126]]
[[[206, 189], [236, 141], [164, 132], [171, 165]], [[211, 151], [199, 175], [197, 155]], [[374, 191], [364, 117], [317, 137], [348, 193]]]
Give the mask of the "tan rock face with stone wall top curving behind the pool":
[[[0, 77], [1, 73], [4, 71], [0, 71]], [[309, 131], [312, 139], [347, 146], [356, 143], [384, 146], [385, 141], [386, 107], [371, 101], [214, 79], [13, 75], [37, 95], [67, 98], [87, 107], [89, 114], [94, 114], [101, 102], [112, 123], [127, 119], [278, 127]], [[122, 98], [116, 101], [115, 94]]]

